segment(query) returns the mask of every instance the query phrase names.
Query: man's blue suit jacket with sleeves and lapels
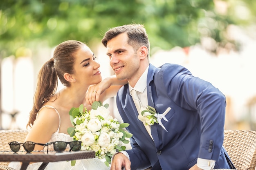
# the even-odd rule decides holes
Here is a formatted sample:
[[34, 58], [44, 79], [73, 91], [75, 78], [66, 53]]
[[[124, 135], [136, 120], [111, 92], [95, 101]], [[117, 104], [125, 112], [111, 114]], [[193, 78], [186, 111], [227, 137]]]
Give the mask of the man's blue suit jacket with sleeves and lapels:
[[[188, 170], [197, 158], [216, 160], [215, 168], [230, 168], [222, 147], [224, 139], [225, 96], [212, 84], [193, 77], [184, 67], [149, 65], [148, 105], [158, 113], [171, 110], [159, 124], [151, 126], [151, 137], [137, 118], [138, 112], [126, 84], [117, 93], [117, 107], [128, 131], [132, 149], [127, 150], [131, 169], [153, 166], [158, 160], [162, 170]], [[230, 161], [231, 162], [231, 161]]]

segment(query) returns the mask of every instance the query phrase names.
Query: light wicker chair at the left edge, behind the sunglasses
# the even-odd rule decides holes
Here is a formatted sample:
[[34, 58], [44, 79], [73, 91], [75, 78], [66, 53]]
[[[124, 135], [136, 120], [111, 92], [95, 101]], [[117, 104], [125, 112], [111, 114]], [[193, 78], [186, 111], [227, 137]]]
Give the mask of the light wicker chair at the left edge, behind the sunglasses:
[[[18, 141], [23, 143], [27, 137], [27, 130], [0, 130], [0, 151], [11, 150], [9, 142]], [[14, 170], [8, 167], [9, 162], [0, 162], [0, 170]]]

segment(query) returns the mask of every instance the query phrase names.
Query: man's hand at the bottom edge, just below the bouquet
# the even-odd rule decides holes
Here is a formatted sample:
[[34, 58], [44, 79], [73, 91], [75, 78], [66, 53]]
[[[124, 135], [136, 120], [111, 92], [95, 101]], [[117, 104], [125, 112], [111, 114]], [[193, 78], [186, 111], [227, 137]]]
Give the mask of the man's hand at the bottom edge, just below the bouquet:
[[122, 167], [126, 170], [130, 170], [131, 162], [123, 153], [117, 153], [112, 159], [110, 170], [122, 170]]

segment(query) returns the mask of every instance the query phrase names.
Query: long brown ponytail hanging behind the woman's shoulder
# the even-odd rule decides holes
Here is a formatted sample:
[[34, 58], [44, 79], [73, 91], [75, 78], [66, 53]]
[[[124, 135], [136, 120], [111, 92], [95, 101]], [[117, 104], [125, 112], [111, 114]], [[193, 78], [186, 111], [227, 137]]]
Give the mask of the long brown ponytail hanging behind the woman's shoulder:
[[51, 58], [42, 66], [38, 73], [36, 92], [33, 99], [34, 105], [29, 113], [27, 128], [28, 126], [33, 126], [38, 111], [56, 93], [57, 87], [58, 77], [54, 66], [54, 58]]

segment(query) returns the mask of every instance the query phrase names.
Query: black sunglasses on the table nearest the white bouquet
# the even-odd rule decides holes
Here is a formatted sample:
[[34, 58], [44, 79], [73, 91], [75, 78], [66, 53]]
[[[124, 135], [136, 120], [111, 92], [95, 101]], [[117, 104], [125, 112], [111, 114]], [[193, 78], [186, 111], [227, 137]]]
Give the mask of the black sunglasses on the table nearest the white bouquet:
[[53, 144], [53, 148], [55, 152], [63, 152], [67, 148], [67, 144], [70, 145], [70, 150], [69, 151], [78, 151], [81, 150], [81, 141], [71, 141], [71, 142], [65, 142], [65, 141], [54, 141], [54, 142], [48, 142], [44, 145], [47, 146], [47, 153], [48, 153], [48, 146]]

